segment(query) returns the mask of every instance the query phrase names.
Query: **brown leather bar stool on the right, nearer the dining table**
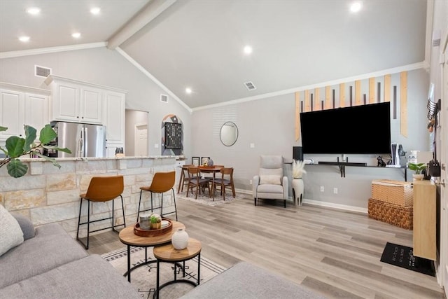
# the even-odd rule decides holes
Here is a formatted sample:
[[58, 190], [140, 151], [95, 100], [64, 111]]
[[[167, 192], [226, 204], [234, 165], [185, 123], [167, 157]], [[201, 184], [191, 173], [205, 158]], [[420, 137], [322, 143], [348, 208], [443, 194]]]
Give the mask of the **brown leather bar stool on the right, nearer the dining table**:
[[[141, 194], [143, 191], [151, 192], [151, 209], [144, 209], [142, 211], [153, 211], [153, 209], [160, 208], [160, 216], [163, 214], [163, 193], [172, 190], [173, 198], [174, 198], [174, 213], [176, 213], [176, 221], [177, 221], [177, 207], [176, 207], [176, 196], [174, 195], [174, 183], [176, 183], [176, 172], [156, 172], [153, 177], [153, 181], [151, 182], [151, 186], [149, 187], [140, 187], [140, 200], [139, 200], [139, 209], [137, 210], [137, 222], [139, 222], [139, 214], [140, 214], [140, 204], [141, 204]], [[160, 207], [153, 207], [153, 193], [162, 194], [162, 199], [160, 200]], [[169, 212], [167, 214], [172, 214], [173, 212]], [[165, 214], [165, 215], [167, 215]]]

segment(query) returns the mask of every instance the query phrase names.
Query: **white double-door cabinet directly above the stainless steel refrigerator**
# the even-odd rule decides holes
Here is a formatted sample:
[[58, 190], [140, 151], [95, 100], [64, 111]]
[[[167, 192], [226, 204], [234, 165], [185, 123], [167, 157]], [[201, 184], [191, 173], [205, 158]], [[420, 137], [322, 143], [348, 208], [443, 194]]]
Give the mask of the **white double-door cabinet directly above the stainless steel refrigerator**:
[[99, 85], [54, 75], [48, 76], [45, 84], [52, 90], [51, 120], [102, 123], [103, 90]]

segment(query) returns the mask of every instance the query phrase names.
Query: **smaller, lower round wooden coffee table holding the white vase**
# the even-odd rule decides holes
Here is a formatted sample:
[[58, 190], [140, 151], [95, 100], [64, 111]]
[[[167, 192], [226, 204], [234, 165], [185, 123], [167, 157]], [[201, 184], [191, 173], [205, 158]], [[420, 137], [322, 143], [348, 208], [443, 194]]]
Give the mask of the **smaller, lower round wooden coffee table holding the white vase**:
[[[193, 284], [193, 286], [198, 286], [201, 280], [201, 242], [197, 239], [188, 239], [188, 245], [186, 249], [177, 250], [174, 249], [173, 245], [165, 244], [162, 246], [154, 247], [154, 257], [157, 260], [157, 285], [153, 298], [159, 298], [160, 289], [168, 286], [169, 284], [175, 284], [177, 282], [185, 282], [187, 284]], [[191, 260], [197, 256], [197, 282], [188, 279], [177, 279], [176, 277], [176, 263], [183, 263], [183, 277], [185, 277], [185, 262], [186, 260]], [[165, 284], [160, 286], [160, 262], [174, 263], [174, 280], [167, 281]], [[179, 265], [180, 267], [180, 265]]]

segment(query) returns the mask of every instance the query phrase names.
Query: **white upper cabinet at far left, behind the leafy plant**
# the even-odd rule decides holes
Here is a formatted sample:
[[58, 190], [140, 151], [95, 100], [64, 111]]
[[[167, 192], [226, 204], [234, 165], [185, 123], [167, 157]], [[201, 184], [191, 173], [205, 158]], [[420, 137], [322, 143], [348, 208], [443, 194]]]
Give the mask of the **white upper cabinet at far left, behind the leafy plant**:
[[0, 132], [0, 140], [10, 136], [25, 136], [24, 125], [37, 130], [50, 123], [49, 90], [29, 88], [10, 83], [0, 83], [0, 125], [8, 130]]

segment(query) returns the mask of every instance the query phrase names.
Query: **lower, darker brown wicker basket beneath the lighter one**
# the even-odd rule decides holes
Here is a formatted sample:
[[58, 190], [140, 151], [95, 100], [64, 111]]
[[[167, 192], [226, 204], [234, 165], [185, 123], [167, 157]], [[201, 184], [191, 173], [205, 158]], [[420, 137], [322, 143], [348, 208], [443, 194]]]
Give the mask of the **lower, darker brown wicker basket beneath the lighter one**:
[[413, 207], [403, 207], [398, 204], [381, 202], [370, 198], [368, 212], [369, 218], [386, 222], [407, 230], [412, 230], [413, 228]]

